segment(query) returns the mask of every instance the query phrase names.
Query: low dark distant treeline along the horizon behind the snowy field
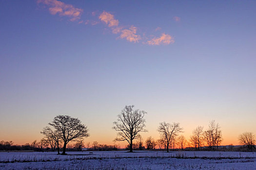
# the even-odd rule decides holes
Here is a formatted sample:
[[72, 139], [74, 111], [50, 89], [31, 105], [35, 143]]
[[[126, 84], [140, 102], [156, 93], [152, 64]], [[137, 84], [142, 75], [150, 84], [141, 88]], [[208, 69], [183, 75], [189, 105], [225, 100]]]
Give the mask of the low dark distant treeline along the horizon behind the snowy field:
[[[159, 148], [157, 144], [153, 144], [149, 142], [149, 140], [154, 141], [152, 137], [149, 137], [144, 146], [144, 142], [138, 142], [133, 145], [134, 150], [136, 151], [143, 151], [143, 150], [150, 150], [150, 151], [164, 151], [165, 148]], [[0, 151], [3, 152], [52, 152], [52, 149], [49, 146], [41, 147], [40, 142], [33, 141], [31, 144], [26, 143], [24, 145], [15, 145], [12, 141], [0, 141]], [[82, 145], [78, 145], [77, 143], [82, 143]], [[126, 148], [122, 149], [118, 145], [107, 145], [107, 144], [98, 144], [97, 141], [94, 141], [92, 146], [90, 147], [90, 143], [87, 143], [87, 147], [85, 148], [85, 145], [83, 142], [79, 141], [73, 145], [67, 146], [67, 151], [69, 152], [76, 152], [76, 151], [120, 151], [120, 150], [129, 150], [130, 145], [127, 145]], [[172, 148], [172, 151], [181, 151], [181, 149], [178, 148]], [[62, 148], [60, 147], [60, 151], [62, 151]], [[193, 147], [186, 147], [182, 149], [182, 151], [198, 151], [197, 148]], [[199, 151], [211, 151], [209, 147], [201, 147]], [[233, 152], [248, 152], [251, 150], [248, 150], [247, 146], [242, 145], [227, 145], [227, 146], [219, 146], [217, 151], [233, 151]]]

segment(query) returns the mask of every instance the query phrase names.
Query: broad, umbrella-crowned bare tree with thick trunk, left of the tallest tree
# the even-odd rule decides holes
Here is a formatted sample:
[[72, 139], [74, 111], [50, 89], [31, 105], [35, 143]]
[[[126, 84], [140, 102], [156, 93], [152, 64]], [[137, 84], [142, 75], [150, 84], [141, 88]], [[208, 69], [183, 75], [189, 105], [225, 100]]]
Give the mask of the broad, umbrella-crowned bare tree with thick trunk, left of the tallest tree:
[[63, 141], [63, 151], [61, 154], [66, 154], [68, 142], [90, 136], [87, 126], [82, 124], [78, 118], [71, 118], [67, 115], [56, 116], [49, 125], [56, 129]]

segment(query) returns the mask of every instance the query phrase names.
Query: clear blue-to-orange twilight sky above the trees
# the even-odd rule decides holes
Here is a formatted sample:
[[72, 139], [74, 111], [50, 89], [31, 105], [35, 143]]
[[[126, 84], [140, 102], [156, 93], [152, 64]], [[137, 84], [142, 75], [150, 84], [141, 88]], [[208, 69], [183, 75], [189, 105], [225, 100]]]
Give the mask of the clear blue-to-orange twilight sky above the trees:
[[[216, 120], [256, 134], [255, 0], [0, 0], [0, 140], [31, 143], [57, 115], [113, 144], [125, 105], [143, 139]], [[125, 145], [126, 143], [121, 143]]]

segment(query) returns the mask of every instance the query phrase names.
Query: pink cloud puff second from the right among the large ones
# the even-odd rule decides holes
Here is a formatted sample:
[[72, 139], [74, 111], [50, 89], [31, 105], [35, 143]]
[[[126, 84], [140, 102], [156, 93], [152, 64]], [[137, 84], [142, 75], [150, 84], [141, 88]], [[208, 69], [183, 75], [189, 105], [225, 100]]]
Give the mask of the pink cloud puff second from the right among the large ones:
[[140, 35], [137, 35], [136, 33], [137, 33], [137, 28], [134, 26], [131, 26], [129, 30], [127, 29], [121, 30], [121, 34], [119, 38], [126, 38], [127, 41], [136, 43], [141, 39]]

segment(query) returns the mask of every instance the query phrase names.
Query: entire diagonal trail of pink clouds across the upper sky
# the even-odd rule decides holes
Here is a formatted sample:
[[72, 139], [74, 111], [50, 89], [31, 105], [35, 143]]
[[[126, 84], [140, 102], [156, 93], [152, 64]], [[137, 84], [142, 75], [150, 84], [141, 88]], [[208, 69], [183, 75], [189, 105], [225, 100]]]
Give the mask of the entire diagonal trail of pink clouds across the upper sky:
[[[105, 24], [107, 24], [107, 27], [109, 27], [112, 31], [113, 34], [118, 34], [118, 38], [120, 39], [126, 39], [129, 42], [134, 42], [134, 43], [138, 43], [141, 39], [144, 40], [144, 42], [142, 42], [143, 44], [146, 43], [148, 45], [160, 45], [160, 44], [170, 44], [170, 43], [174, 43], [174, 39], [172, 36], [170, 36], [169, 34], [161, 34], [160, 37], [154, 37], [153, 39], [146, 41], [145, 39], [148, 40], [148, 38], [146, 37], [145, 33], [142, 34], [142, 38], [139, 34], [137, 34], [137, 30], [138, 28], [135, 26], [119, 26], [119, 21], [118, 19], [115, 19], [114, 15], [103, 11], [99, 16], [98, 19], [95, 20], [95, 18], [92, 19], [87, 19], [87, 20], [81, 20], [81, 14], [83, 12], [82, 9], [80, 8], [75, 8], [73, 5], [71, 4], [66, 4], [62, 1], [59, 0], [37, 0], [38, 4], [44, 4], [45, 6], [47, 6], [47, 8], [49, 9], [50, 14], [52, 15], [59, 15], [59, 16], [65, 16], [65, 17], [69, 17], [70, 21], [78, 21], [78, 24], [83, 23], [84, 25], [90, 24], [90, 25], [96, 25], [98, 24], [100, 21], [104, 22]], [[96, 17], [97, 12], [91, 12], [91, 13], [87, 13], [90, 16]], [[174, 17], [174, 19], [176, 21], [180, 20], [180, 17]], [[105, 30], [107, 30], [105, 28]], [[161, 30], [160, 27], [157, 27], [155, 29], [155, 31], [159, 31]], [[146, 41], [146, 42], [145, 42]]]

